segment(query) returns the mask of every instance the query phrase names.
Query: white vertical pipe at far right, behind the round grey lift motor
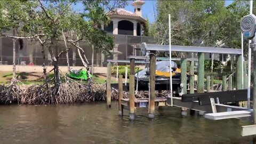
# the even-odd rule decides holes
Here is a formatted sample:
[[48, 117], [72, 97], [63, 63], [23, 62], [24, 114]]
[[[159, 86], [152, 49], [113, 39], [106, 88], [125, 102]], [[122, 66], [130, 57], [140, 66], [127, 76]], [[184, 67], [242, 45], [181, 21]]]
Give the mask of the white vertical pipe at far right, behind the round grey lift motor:
[[[250, 14], [252, 14], [252, 4], [253, 1], [250, 0]], [[250, 95], [251, 95], [251, 57], [252, 57], [252, 50], [250, 49], [250, 43], [252, 41], [249, 40], [248, 44], [248, 87], [247, 87], [247, 107], [250, 108]]]

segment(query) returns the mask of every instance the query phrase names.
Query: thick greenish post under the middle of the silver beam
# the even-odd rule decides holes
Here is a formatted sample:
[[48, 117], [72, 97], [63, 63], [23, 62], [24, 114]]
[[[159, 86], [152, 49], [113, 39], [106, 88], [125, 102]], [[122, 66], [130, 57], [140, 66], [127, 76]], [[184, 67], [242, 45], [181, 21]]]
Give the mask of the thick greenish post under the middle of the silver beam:
[[197, 92], [204, 93], [204, 53], [198, 53], [198, 85]]

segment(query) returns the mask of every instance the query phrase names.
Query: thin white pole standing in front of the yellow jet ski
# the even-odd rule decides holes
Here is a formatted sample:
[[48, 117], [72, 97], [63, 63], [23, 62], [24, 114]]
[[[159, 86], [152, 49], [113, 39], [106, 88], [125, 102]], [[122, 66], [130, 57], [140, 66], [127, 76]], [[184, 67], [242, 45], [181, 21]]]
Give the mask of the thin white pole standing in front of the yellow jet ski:
[[171, 106], [173, 106], [172, 100], [172, 46], [171, 46], [171, 14], [169, 14], [169, 58], [170, 58], [170, 96], [171, 96]]

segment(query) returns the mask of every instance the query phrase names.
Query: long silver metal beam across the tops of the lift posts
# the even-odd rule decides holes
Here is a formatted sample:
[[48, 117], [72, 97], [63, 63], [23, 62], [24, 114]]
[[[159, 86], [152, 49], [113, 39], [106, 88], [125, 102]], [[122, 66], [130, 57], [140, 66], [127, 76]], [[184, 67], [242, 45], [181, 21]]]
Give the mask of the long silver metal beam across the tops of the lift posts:
[[[147, 44], [146, 50], [147, 51], [169, 51], [169, 45]], [[172, 45], [172, 51], [242, 54], [241, 49], [230, 49], [230, 48], [221, 48], [221, 47], [181, 46], [181, 45]]]

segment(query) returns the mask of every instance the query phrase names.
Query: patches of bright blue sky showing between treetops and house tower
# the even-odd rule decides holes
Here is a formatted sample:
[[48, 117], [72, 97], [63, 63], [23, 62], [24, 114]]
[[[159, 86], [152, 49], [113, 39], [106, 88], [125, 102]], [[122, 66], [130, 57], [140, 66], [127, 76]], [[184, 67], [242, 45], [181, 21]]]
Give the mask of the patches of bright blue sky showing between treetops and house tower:
[[[145, 1], [145, 0], [144, 0]], [[132, 6], [133, 1], [129, 1], [129, 4], [124, 7], [125, 10], [134, 12], [134, 7]], [[225, 1], [225, 5], [228, 6], [232, 3], [233, 1]], [[155, 14], [154, 14], [154, 7], [156, 6], [157, 1], [152, 1], [152, 0], [146, 0], [145, 4], [142, 5], [142, 17], [145, 19], [148, 19], [150, 23], [155, 21]], [[74, 6], [75, 9], [78, 11], [81, 11], [81, 6], [82, 4], [77, 4]]]

